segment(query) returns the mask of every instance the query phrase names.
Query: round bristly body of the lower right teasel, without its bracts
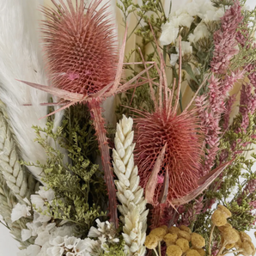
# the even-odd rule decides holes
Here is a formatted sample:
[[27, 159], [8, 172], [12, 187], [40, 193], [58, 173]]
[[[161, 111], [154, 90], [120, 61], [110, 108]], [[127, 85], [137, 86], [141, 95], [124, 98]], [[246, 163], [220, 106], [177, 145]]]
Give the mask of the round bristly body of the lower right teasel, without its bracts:
[[[141, 186], [146, 187], [157, 156], [167, 143], [158, 175], [164, 176], [167, 171], [169, 173], [168, 202], [186, 196], [198, 186], [203, 137], [197, 117], [188, 111], [168, 116], [164, 109], [143, 115], [143, 118], [134, 119], [135, 156]], [[162, 183], [158, 183], [155, 203], [161, 191]]]

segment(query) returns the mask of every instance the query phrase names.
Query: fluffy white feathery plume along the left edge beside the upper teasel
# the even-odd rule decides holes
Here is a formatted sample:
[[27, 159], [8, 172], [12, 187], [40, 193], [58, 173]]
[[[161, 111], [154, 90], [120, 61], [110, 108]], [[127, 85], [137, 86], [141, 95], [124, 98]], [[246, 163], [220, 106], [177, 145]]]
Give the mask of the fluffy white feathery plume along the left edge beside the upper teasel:
[[[34, 0], [0, 0], [0, 100], [24, 161], [44, 163], [46, 153], [34, 143], [32, 125], [45, 126], [46, 119], [40, 118], [46, 116], [47, 107], [40, 103], [48, 102], [48, 94], [16, 80], [47, 84], [39, 46], [38, 5]], [[40, 179], [40, 168], [29, 170]]]

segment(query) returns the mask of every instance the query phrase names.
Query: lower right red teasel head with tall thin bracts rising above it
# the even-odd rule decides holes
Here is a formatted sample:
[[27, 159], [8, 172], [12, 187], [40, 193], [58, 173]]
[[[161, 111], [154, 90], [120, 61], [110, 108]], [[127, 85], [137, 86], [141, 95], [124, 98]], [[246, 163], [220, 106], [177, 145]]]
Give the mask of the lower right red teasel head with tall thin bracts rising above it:
[[[160, 51], [159, 57], [162, 58]], [[148, 78], [155, 111], [136, 111], [140, 116], [134, 119], [135, 159], [146, 200], [153, 205], [172, 204], [174, 199], [182, 198], [198, 188], [204, 134], [194, 108], [189, 110], [190, 106], [187, 106], [182, 113], [177, 113], [181, 67], [176, 95], [175, 80], [173, 90], [168, 88], [163, 59], [161, 67], [155, 65], [155, 68], [159, 75], [158, 95], [155, 95]], [[159, 162], [160, 158], [162, 160]], [[155, 170], [157, 174], [154, 174]]]

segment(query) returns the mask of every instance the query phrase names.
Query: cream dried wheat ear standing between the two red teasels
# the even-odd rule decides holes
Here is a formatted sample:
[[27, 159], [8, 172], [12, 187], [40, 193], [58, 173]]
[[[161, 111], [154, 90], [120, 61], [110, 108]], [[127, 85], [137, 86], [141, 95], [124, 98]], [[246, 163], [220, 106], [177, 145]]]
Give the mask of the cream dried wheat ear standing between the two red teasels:
[[146, 237], [147, 215], [146, 200], [143, 198], [143, 188], [139, 186], [137, 166], [134, 166], [133, 120], [125, 115], [117, 124], [114, 139], [113, 169], [119, 180], [115, 180], [118, 188], [117, 196], [121, 203], [120, 219], [124, 222], [125, 250], [129, 255], [144, 255], [143, 243]]

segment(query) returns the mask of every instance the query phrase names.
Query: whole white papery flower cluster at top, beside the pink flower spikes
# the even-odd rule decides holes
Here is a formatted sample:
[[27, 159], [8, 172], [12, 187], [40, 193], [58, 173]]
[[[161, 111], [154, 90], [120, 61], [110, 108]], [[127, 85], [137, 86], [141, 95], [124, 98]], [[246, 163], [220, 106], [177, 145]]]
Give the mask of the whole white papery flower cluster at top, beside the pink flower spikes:
[[[169, 21], [162, 25], [162, 34], [159, 39], [162, 46], [177, 43], [180, 27], [191, 27], [197, 15], [202, 21], [194, 29], [193, 33], [188, 36], [189, 42], [181, 42], [182, 56], [192, 53], [192, 46], [190, 44], [210, 36], [210, 32], [205, 24], [210, 21], [219, 21], [222, 15], [224, 15], [224, 9], [214, 7], [210, 0], [188, 0], [186, 4], [180, 6], [180, 9], [171, 13]], [[178, 54], [172, 54], [171, 64], [176, 64], [177, 59]]]

